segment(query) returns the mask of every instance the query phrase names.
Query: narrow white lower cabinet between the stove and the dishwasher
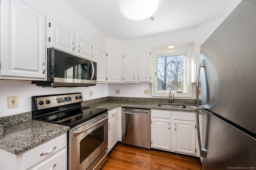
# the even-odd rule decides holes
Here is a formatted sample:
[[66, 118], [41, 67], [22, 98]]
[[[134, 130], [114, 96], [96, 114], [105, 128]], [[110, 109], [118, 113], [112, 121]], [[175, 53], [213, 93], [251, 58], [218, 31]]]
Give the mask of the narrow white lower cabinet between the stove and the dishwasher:
[[118, 141], [118, 108], [108, 111], [108, 152]]

